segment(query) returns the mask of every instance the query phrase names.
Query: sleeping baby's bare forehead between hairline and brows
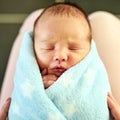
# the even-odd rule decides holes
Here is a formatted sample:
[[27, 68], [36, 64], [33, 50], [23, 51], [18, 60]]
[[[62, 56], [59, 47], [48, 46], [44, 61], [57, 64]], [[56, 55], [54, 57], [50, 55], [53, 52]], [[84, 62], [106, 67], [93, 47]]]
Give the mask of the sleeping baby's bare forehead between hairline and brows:
[[[83, 27], [81, 27], [81, 25]], [[61, 17], [61, 16], [47, 16], [44, 19], [40, 19], [38, 21], [38, 24], [36, 24], [35, 26], [35, 33], [38, 31], [40, 31], [42, 29], [42, 32], [45, 31], [52, 31], [54, 30], [53, 28], [55, 26], [58, 26], [57, 29], [58, 31], [60, 31], [61, 29], [75, 29], [77, 30], [81, 30], [81, 31], [85, 31], [88, 32], [89, 31], [89, 27], [87, 25], [87, 22], [85, 19], [83, 18], [76, 18], [76, 17]], [[57, 31], [54, 31], [57, 32]]]

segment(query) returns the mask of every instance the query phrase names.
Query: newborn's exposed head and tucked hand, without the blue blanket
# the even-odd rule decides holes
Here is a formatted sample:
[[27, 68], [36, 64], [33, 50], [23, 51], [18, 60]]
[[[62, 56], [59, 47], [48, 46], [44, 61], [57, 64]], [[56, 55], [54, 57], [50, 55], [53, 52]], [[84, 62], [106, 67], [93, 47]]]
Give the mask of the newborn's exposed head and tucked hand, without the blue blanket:
[[74, 5], [44, 10], [34, 25], [34, 49], [45, 88], [89, 52], [91, 28], [87, 15]]

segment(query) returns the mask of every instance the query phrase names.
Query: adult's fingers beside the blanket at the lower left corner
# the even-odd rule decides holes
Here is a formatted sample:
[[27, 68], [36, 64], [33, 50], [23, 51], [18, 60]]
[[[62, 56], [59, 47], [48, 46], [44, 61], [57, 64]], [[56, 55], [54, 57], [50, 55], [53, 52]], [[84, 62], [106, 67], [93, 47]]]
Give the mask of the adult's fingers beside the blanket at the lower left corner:
[[6, 120], [11, 98], [8, 98], [0, 109], [0, 120]]

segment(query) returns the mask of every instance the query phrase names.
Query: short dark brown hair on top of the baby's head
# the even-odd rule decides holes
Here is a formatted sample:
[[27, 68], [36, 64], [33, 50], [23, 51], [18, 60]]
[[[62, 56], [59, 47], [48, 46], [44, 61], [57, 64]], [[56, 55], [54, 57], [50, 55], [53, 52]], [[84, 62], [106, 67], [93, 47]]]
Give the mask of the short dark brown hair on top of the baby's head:
[[91, 37], [91, 26], [90, 26], [88, 16], [81, 7], [79, 7], [73, 3], [54, 3], [50, 6], [48, 6], [47, 8], [45, 8], [42, 11], [42, 13], [38, 16], [38, 18], [35, 20], [34, 31], [35, 31], [36, 24], [40, 18], [42, 18], [44, 16], [58, 16], [58, 15], [60, 15], [61, 17], [62, 16], [63, 17], [64, 16], [77, 17], [77, 18], [81, 18], [81, 16], [84, 17], [88, 23], [88, 27], [89, 27], [89, 31], [90, 31], [89, 39], [91, 40], [91, 38], [92, 38]]

